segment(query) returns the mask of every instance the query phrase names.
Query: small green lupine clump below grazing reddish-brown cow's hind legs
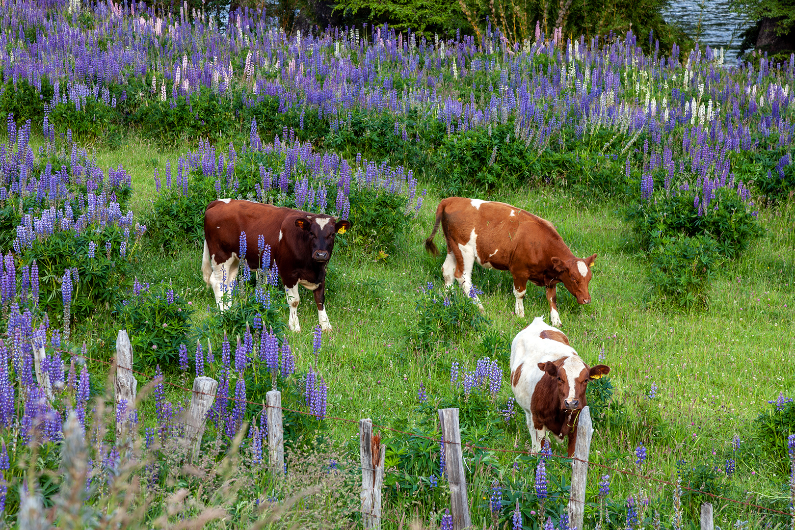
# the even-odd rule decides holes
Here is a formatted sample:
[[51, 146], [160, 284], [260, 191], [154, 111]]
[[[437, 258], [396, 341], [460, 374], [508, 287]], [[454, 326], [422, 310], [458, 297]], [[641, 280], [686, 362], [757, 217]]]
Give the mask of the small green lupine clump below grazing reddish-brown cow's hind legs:
[[480, 333], [490, 324], [457, 285], [434, 289], [432, 283], [421, 286], [417, 298], [417, 324], [413, 339], [421, 350], [437, 343], [448, 343], [469, 333]]

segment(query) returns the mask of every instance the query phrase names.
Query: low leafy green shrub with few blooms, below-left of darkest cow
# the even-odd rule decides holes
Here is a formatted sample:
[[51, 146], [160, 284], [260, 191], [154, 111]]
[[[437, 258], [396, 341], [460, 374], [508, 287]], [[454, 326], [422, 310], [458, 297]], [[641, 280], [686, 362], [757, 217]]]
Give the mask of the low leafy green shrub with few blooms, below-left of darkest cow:
[[141, 366], [176, 365], [180, 344], [191, 331], [192, 303], [170, 284], [140, 284], [138, 278], [116, 307], [118, 319], [136, 347]]

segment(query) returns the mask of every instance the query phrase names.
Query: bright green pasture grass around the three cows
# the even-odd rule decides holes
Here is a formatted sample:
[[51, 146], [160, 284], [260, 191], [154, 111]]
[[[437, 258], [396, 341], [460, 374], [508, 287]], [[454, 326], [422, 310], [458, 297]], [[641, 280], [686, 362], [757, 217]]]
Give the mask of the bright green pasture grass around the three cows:
[[[160, 150], [133, 141], [122, 149], [98, 149], [95, 155], [100, 164], [123, 164], [130, 172], [134, 188], [131, 207], [140, 217], [155, 193], [153, 168], [163, 168], [168, 158], [176, 169], [176, 157], [183, 151]], [[320, 350], [320, 373], [329, 388], [329, 416], [370, 417], [378, 424], [405, 422], [412, 427], [415, 418], [411, 411], [417, 404], [420, 383], [424, 383], [429, 400], [438, 403], [449, 394], [451, 363], [473, 366], [484, 354], [482, 337], [473, 334], [427, 353], [416, 350], [409, 340], [416, 321], [418, 288], [428, 281], [442, 283], [444, 252], [431, 257], [423, 245], [442, 197], [432, 183], [423, 186], [430, 189], [416, 222], [385, 260], [355, 248], [338, 248], [332, 258], [326, 296], [334, 331], [324, 334]], [[769, 406], [768, 400], [778, 393], [795, 394], [795, 361], [790, 355], [795, 343], [795, 208], [791, 203], [762, 209], [766, 235], [739, 261], [722, 265], [709, 292], [708, 308], [683, 312], [651, 297], [647, 264], [634, 246], [630, 226], [622, 220], [622, 201], [587, 202], [543, 187], [498, 190], [490, 198], [549, 219], [576, 255], [599, 254], [590, 284], [590, 305], [576, 304], [562, 284], [558, 289], [562, 329], [589, 364], [595, 364], [603, 351], [604, 362], [612, 369], [614, 400], [624, 404], [630, 419], [620, 430], [597, 428], [591, 444], [593, 462], [628, 469], [634, 462], [635, 447], [645, 443], [650, 455], [646, 471], [654, 478], [672, 480], [677, 461], [713, 462], [713, 451], [719, 458], [733, 435], [741, 435], [745, 443], [752, 434], [750, 422]], [[436, 236], [440, 247], [444, 246], [442, 239]], [[200, 259], [201, 249], [193, 244], [186, 243], [173, 254], [149, 248], [138, 270], [141, 280], [170, 280], [175, 288], [188, 289], [186, 296], [197, 310], [197, 326], [207, 321], [213, 304], [201, 278]], [[529, 286], [526, 318], [520, 319], [513, 313], [508, 273], [476, 268], [473, 278], [485, 292], [481, 300], [491, 329], [509, 342], [535, 316], [545, 315], [549, 321], [543, 289]], [[290, 343], [298, 368], [306, 369], [313, 357], [312, 327], [317, 314], [310, 292], [301, 289], [301, 299], [302, 331], [290, 335]], [[283, 312], [287, 319], [286, 309]], [[95, 315], [76, 326], [74, 335], [88, 342], [107, 341], [115, 329], [112, 317]], [[499, 361], [507, 373], [509, 359], [503, 355]], [[139, 381], [139, 386], [143, 382]], [[652, 382], [657, 385], [657, 398], [648, 400]], [[499, 399], [504, 402], [510, 395], [510, 386], [503, 384]], [[185, 396], [173, 392], [171, 398], [184, 400]], [[514, 447], [519, 449], [529, 443], [521, 416], [510, 427]], [[344, 445], [357, 432], [354, 424], [328, 423], [335, 445]], [[484, 439], [483, 444], [489, 446], [489, 440]], [[556, 454], [563, 452], [563, 447], [556, 447]], [[512, 457], [499, 458], [510, 461]], [[779, 464], [761, 458], [754, 460], [753, 466], [739, 464], [732, 480], [739, 490], [754, 492], [749, 493], [751, 501], [780, 495], [786, 477], [777, 470]], [[591, 493], [597, 473], [599, 470], [591, 470]], [[612, 475], [615, 498], [637, 490], [634, 478]], [[671, 495], [670, 489], [663, 492], [653, 483], [646, 487], [653, 496]], [[387, 516], [399, 515], [390, 513], [388, 506]], [[743, 513], [744, 519], [761, 524], [758, 515], [734, 507], [720, 511], [715, 524], [726, 528]]]

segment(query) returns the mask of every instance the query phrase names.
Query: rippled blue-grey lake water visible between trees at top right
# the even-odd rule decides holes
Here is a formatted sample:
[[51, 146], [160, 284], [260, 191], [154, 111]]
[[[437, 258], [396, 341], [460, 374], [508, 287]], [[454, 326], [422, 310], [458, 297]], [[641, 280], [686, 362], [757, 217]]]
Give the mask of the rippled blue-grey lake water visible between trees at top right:
[[727, 0], [672, 0], [663, 15], [666, 21], [680, 25], [694, 39], [700, 37], [701, 44], [708, 44], [715, 50], [724, 48], [726, 63], [735, 64], [743, 41], [740, 33], [748, 24], [729, 8]]

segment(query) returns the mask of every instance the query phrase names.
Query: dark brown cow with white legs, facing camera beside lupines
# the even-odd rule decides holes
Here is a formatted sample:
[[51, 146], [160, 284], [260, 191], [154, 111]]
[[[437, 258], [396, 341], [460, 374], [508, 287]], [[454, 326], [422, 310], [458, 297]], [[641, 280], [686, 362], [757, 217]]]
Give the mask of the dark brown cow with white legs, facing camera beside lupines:
[[246, 233], [246, 262], [258, 269], [261, 256], [258, 238], [270, 245], [270, 253], [285, 284], [290, 308], [289, 327], [301, 331], [298, 323], [298, 284], [315, 295], [317, 316], [324, 330], [331, 330], [325, 308], [326, 264], [332, 258], [335, 234], [351, 227], [347, 220], [331, 215], [253, 203], [248, 200], [219, 199], [204, 211], [204, 281], [215, 293], [221, 311], [227, 309], [223, 295], [238, 274], [240, 233]]

